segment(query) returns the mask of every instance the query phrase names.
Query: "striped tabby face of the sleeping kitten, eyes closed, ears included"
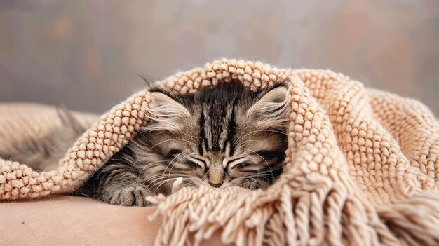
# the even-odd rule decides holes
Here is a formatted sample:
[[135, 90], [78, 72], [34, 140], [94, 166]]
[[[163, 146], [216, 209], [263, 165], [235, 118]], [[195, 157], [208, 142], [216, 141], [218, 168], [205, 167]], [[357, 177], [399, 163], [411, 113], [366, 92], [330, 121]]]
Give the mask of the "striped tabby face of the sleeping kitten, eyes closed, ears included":
[[184, 186], [266, 189], [281, 174], [288, 112], [284, 86], [257, 93], [238, 86], [151, 96], [156, 122], [130, 147], [154, 193], [169, 193], [179, 177]]

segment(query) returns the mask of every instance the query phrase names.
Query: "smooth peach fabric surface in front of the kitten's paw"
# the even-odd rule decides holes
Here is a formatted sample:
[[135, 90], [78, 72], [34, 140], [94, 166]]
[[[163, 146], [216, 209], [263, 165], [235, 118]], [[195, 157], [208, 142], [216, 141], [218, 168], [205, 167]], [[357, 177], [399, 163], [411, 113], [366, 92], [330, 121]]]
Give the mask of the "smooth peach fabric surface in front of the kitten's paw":
[[[156, 207], [121, 207], [76, 196], [0, 203], [0, 245], [153, 245]], [[222, 245], [214, 235], [202, 245]]]

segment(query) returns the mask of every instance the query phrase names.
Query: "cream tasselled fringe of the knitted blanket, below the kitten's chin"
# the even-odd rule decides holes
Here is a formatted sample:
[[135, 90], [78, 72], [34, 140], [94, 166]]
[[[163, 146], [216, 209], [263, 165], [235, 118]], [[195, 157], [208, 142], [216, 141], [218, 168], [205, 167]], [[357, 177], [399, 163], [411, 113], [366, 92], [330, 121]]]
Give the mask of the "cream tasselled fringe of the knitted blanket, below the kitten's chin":
[[149, 219], [162, 215], [155, 243], [182, 245], [191, 237], [189, 241], [199, 245], [221, 229], [222, 242], [236, 245], [438, 245], [435, 194], [375, 209], [353, 189], [349, 177], [337, 172], [331, 177], [309, 175], [312, 191], [299, 190], [291, 182], [269, 192], [238, 187], [217, 192], [201, 186], [149, 197], [160, 203]]

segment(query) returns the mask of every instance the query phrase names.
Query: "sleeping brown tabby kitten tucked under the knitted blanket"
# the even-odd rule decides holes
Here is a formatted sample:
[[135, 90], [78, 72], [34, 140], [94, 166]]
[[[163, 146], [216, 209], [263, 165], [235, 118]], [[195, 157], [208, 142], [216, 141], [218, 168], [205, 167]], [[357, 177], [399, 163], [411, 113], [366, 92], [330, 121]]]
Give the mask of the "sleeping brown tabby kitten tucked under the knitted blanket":
[[[183, 186], [266, 189], [283, 170], [288, 90], [277, 83], [254, 92], [235, 82], [189, 95], [150, 86], [155, 107], [147, 115], [154, 122], [141, 128], [76, 194], [146, 206], [145, 196], [170, 194], [180, 177]], [[18, 146], [9, 156], [40, 170], [58, 163], [86, 130], [67, 110], [60, 111], [60, 118], [63, 126], [55, 137]]]

